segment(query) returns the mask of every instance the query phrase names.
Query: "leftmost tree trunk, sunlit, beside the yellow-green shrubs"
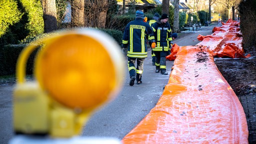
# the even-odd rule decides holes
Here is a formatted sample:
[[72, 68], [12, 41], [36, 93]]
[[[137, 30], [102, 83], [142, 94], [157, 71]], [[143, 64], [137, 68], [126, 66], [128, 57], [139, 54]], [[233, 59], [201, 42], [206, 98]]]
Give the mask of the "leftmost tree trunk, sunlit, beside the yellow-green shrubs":
[[51, 32], [57, 29], [57, 12], [55, 0], [41, 0], [43, 8], [44, 32]]

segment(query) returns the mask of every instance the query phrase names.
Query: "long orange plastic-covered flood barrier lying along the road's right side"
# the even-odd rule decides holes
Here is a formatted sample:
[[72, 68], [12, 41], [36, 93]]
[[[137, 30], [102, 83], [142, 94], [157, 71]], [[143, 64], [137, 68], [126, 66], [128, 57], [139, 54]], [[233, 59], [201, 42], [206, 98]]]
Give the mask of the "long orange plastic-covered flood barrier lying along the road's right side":
[[123, 143], [248, 143], [241, 103], [213, 60], [229, 45], [223, 40], [230, 40], [227, 33], [203, 37], [205, 45], [173, 45], [168, 58], [175, 61], [161, 97]]

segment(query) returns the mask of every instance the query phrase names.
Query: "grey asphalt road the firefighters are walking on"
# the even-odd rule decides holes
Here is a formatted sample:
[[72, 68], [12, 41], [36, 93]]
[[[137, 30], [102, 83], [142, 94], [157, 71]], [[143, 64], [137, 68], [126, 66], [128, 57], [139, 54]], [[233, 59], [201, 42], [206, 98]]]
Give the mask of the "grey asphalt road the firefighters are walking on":
[[[195, 31], [182, 32], [173, 40], [180, 46], [197, 44], [197, 36], [211, 34], [217, 26], [202, 26]], [[115, 137], [122, 139], [155, 106], [163, 87], [168, 83], [173, 61], [166, 61], [168, 75], [155, 73], [150, 49], [144, 61], [142, 84], [129, 86], [128, 69], [124, 82], [117, 96], [109, 101], [89, 118], [81, 132], [82, 136]], [[8, 143], [14, 136], [12, 131], [12, 90], [14, 84], [0, 85], [0, 143]]]

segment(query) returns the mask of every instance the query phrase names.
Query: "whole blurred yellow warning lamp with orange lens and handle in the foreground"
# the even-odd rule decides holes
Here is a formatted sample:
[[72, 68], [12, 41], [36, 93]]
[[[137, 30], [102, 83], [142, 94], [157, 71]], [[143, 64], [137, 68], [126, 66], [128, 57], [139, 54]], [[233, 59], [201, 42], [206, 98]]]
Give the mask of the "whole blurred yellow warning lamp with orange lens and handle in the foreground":
[[34, 76], [25, 82], [25, 63], [38, 44], [24, 48], [17, 61], [13, 125], [20, 133], [52, 137], [79, 134], [88, 116], [112, 99], [124, 77], [119, 45], [105, 33], [79, 28], [37, 40]]

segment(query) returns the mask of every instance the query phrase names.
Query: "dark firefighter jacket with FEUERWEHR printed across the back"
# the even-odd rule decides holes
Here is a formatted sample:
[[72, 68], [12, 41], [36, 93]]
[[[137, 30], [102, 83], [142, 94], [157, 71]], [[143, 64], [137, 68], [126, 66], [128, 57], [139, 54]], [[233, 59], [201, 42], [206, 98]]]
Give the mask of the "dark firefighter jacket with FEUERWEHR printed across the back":
[[126, 25], [123, 31], [122, 46], [127, 47], [128, 57], [147, 57], [146, 36], [151, 32], [152, 28], [141, 18], [135, 18]]

